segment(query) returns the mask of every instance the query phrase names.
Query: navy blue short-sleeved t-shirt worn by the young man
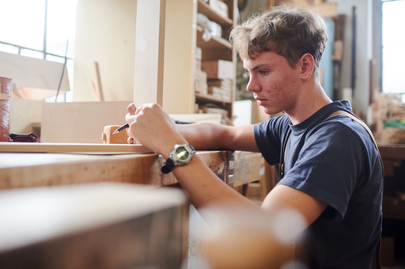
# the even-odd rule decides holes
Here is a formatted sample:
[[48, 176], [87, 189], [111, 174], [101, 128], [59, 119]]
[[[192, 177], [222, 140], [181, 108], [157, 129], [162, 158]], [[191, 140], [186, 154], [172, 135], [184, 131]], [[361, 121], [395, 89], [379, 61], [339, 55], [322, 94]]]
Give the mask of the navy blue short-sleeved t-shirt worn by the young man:
[[287, 185], [325, 202], [304, 232], [310, 268], [374, 268], [381, 235], [383, 170], [369, 133], [335, 111], [352, 114], [348, 101], [322, 107], [292, 125], [288, 115], [255, 125], [255, 137], [270, 165], [284, 162]]

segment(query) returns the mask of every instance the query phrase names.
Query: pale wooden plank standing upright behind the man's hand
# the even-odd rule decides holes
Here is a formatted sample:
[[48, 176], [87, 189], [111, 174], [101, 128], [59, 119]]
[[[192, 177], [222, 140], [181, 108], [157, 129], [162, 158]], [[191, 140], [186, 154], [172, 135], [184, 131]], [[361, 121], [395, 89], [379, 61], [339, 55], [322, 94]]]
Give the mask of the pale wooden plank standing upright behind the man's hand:
[[134, 103], [163, 105], [166, 0], [138, 0]]

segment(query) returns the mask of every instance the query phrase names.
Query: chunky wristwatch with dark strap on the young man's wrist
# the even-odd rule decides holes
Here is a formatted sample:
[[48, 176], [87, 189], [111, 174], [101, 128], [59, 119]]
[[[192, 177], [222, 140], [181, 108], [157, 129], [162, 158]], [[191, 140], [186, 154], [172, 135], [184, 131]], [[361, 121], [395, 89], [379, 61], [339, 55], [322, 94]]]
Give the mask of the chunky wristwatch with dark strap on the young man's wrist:
[[176, 144], [170, 152], [166, 164], [160, 169], [163, 174], [168, 174], [175, 166], [186, 165], [195, 153], [195, 149], [189, 144]]

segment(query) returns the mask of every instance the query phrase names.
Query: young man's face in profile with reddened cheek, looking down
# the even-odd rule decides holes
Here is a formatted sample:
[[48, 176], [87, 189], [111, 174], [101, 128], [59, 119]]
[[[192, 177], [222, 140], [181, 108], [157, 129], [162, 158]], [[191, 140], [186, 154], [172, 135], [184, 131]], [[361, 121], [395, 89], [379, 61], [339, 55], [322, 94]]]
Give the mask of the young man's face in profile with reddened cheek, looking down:
[[299, 68], [291, 68], [286, 58], [271, 51], [244, 60], [244, 68], [250, 76], [246, 89], [267, 114], [294, 110], [301, 84]]

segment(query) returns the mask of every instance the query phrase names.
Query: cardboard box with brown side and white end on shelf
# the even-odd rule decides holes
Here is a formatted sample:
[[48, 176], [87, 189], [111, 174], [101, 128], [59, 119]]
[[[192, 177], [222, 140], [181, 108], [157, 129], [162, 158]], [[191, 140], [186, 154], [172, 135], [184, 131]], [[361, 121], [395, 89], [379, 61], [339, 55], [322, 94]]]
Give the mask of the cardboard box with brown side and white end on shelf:
[[234, 79], [235, 71], [230, 61], [202, 61], [201, 70], [207, 72], [208, 79]]

